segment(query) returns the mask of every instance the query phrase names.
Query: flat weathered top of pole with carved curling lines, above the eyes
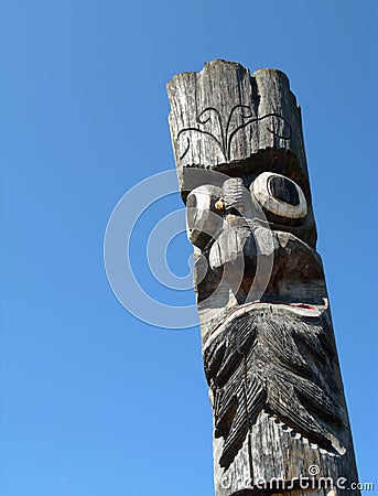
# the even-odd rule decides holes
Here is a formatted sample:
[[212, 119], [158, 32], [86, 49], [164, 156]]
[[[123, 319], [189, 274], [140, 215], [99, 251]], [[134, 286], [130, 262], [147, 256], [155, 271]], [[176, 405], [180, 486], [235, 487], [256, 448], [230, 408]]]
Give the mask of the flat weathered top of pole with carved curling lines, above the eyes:
[[230, 174], [253, 165], [294, 173], [307, 188], [301, 109], [282, 72], [260, 69], [250, 76], [240, 64], [213, 61], [199, 73], [174, 76], [168, 90], [180, 172], [195, 166]]

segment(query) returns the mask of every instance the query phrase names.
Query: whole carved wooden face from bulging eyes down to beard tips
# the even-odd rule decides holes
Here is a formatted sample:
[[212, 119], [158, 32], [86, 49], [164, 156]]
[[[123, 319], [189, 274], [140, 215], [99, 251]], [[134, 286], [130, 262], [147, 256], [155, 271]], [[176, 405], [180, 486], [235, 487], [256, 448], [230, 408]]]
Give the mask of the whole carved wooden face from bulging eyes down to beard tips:
[[264, 416], [298, 442], [344, 453], [324, 276], [302, 188], [272, 172], [226, 177], [194, 188], [186, 206], [219, 466], [229, 470]]

